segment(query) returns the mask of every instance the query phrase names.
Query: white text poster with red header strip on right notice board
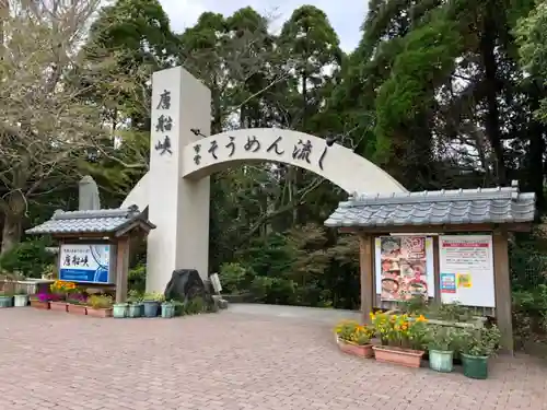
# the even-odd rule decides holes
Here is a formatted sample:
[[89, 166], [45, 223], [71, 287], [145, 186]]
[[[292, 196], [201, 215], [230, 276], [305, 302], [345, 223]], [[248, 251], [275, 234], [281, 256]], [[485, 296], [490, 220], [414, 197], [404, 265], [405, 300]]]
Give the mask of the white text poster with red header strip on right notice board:
[[440, 236], [439, 265], [442, 303], [496, 306], [491, 235]]

